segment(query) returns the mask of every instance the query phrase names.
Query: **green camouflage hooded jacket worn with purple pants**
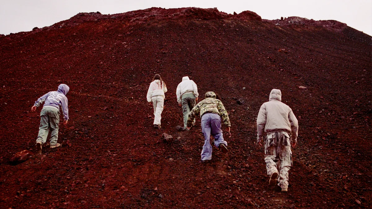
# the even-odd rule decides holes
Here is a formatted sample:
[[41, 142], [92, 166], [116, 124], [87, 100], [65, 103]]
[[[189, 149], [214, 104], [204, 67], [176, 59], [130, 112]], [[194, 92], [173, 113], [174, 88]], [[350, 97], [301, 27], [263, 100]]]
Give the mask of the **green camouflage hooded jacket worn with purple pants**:
[[222, 121], [227, 126], [231, 126], [230, 119], [227, 111], [222, 104], [221, 100], [215, 99], [216, 94], [212, 91], [205, 93], [205, 99], [199, 102], [189, 113], [189, 118], [187, 119], [187, 126], [191, 126], [196, 115], [200, 114], [202, 117], [205, 113], [216, 113], [221, 116]]

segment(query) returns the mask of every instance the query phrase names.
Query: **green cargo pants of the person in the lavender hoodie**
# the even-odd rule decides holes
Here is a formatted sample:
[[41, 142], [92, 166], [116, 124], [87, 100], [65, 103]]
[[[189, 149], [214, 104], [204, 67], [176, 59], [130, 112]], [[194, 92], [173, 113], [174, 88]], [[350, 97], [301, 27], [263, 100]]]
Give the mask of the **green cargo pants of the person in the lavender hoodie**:
[[51, 130], [50, 145], [53, 146], [57, 144], [60, 111], [51, 107], [43, 107], [40, 118], [39, 135], [36, 139], [36, 143], [41, 142], [41, 144], [44, 144], [47, 141], [49, 130]]

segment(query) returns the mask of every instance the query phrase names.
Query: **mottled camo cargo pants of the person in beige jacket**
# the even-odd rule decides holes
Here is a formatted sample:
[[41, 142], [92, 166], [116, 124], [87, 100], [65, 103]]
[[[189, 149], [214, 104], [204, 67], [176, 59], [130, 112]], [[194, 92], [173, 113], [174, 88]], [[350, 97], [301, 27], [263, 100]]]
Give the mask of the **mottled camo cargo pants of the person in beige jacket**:
[[[288, 188], [288, 171], [292, 165], [291, 142], [287, 132], [267, 134], [265, 144], [265, 163], [267, 174], [277, 172], [278, 186]], [[278, 167], [278, 168], [277, 168]]]

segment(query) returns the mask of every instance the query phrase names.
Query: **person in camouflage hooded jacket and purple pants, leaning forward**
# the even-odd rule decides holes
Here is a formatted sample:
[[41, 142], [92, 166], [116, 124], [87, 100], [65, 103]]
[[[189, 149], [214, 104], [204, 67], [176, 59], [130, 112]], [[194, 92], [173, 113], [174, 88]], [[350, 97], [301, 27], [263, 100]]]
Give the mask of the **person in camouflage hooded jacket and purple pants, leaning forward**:
[[212, 146], [210, 144], [211, 134], [215, 138], [214, 145], [222, 152], [227, 153], [227, 142], [224, 140], [221, 130], [221, 118], [230, 133], [230, 119], [221, 100], [216, 99], [213, 91], [205, 93], [205, 99], [199, 102], [189, 113], [187, 119], [187, 129], [190, 130], [194, 118], [200, 114], [202, 120], [202, 132], [204, 135], [204, 145], [202, 150], [201, 162], [208, 162], [212, 159]]

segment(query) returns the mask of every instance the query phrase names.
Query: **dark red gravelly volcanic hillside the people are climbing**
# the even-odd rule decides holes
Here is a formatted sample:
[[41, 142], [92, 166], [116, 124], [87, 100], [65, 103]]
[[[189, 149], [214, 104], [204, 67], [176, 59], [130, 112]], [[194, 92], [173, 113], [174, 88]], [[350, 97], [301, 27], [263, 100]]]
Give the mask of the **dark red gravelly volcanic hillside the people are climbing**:
[[[371, 208], [371, 45], [337, 21], [198, 8], [79, 13], [1, 36], [0, 207]], [[146, 101], [155, 73], [168, 87], [161, 130]], [[208, 164], [199, 163], [200, 120], [175, 129], [186, 75], [201, 97], [221, 95], [230, 115], [229, 152], [214, 149]], [[64, 146], [38, 155], [41, 108], [31, 107], [61, 83], [70, 86]], [[269, 187], [254, 144], [273, 88], [299, 120], [287, 193]], [[31, 159], [10, 163], [25, 149]]]

